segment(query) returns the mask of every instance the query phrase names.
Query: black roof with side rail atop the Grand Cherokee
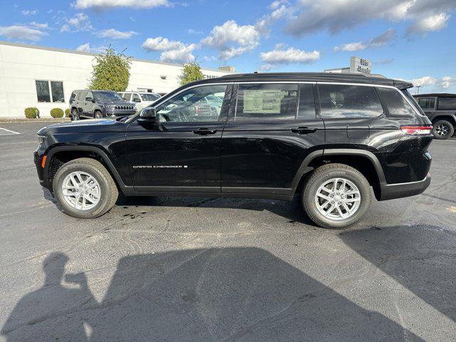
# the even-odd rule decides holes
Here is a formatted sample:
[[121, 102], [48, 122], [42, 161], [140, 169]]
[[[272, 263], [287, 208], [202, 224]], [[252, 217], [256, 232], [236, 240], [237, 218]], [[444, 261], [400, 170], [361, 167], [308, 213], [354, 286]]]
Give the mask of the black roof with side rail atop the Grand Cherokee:
[[400, 89], [413, 87], [412, 83], [392, 78], [378, 76], [366, 76], [362, 73], [235, 73], [224, 75], [219, 78], [207, 78], [195, 83], [212, 82], [259, 82], [259, 81], [296, 81], [296, 82], [344, 82], [379, 84], [383, 86], [395, 86]]

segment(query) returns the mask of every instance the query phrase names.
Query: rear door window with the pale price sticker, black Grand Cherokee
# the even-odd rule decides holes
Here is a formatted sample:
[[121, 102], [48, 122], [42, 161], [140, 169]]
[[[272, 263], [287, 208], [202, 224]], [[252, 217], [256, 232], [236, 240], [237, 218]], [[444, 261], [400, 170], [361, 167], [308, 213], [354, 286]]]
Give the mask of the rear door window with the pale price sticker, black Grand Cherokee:
[[234, 120], [294, 120], [297, 105], [297, 84], [239, 84]]

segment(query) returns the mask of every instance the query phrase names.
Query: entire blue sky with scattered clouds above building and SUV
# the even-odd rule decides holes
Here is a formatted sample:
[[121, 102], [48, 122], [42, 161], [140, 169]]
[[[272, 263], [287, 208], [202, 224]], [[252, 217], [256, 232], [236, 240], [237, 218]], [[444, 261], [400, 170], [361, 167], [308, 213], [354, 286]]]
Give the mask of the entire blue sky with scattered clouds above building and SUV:
[[4, 41], [112, 46], [240, 73], [323, 71], [359, 56], [420, 93], [456, 93], [456, 0], [0, 0], [0, 9]]

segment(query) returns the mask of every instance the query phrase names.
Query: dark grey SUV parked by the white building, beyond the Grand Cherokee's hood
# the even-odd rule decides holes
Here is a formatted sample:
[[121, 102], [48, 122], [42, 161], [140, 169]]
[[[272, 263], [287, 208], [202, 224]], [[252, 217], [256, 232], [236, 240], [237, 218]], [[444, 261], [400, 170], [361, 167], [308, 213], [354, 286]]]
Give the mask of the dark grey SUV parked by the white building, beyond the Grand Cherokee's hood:
[[74, 90], [70, 97], [71, 120], [115, 118], [136, 113], [135, 104], [123, 100], [115, 91]]

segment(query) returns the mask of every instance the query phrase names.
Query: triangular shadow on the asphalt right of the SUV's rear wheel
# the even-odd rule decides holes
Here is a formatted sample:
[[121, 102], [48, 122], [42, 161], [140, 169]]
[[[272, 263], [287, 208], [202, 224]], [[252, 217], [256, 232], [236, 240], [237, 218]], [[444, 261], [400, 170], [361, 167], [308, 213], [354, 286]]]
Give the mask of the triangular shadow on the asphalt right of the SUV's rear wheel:
[[456, 321], [456, 232], [437, 226], [341, 232], [348, 247]]

